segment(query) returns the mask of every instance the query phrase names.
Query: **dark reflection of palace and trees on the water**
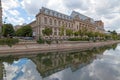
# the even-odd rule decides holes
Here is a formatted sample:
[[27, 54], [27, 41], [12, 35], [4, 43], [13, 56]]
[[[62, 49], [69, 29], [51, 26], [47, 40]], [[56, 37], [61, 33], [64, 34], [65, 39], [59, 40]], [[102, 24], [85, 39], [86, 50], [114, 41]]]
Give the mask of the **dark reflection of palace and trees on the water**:
[[[40, 53], [37, 55], [33, 54], [33, 55], [0, 57], [0, 72], [3, 73], [4, 70], [4, 68], [2, 68], [1, 66], [3, 65], [2, 64], [3, 62], [14, 64], [14, 61], [17, 60], [19, 61], [20, 59], [23, 58], [27, 58], [28, 60], [31, 59], [36, 64], [36, 67], [34, 68], [35, 69], [37, 68], [42, 78], [47, 77], [56, 72], [62, 71], [64, 69], [71, 69], [72, 72], [75, 72], [78, 69], [90, 64], [96, 58], [97, 55], [102, 54], [106, 49], [111, 49], [111, 48], [115, 49], [116, 45], [93, 48], [84, 51], [75, 50], [68, 52]], [[29, 65], [34, 65], [34, 64], [28, 64], [28, 66]], [[29, 69], [31, 69], [30, 67], [31, 66], [29, 66]], [[27, 70], [29, 71], [29, 69]], [[4, 72], [4, 74], [6, 73]], [[2, 79], [2, 76], [3, 75], [0, 74], [0, 79]], [[39, 78], [41, 77], [39, 76]], [[58, 80], [58, 79], [54, 78], [52, 80]]]

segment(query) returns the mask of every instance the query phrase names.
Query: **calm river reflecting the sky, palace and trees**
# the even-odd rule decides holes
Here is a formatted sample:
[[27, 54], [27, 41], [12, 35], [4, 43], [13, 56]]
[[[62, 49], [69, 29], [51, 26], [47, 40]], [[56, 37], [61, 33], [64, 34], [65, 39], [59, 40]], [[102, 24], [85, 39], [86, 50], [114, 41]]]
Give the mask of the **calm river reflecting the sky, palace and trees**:
[[120, 80], [120, 44], [0, 57], [0, 80]]

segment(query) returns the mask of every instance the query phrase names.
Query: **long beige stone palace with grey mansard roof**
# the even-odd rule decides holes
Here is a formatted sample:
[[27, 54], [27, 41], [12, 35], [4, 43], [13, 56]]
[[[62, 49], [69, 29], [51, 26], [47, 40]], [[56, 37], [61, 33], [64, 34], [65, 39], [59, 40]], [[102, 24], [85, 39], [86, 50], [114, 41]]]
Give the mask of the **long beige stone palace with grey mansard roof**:
[[[36, 20], [29, 24], [33, 29], [33, 35], [38, 38], [39, 36], [43, 38], [52, 39], [64, 39], [68, 38], [66, 35], [66, 29], [71, 29], [73, 32], [82, 30], [83, 28], [88, 31], [104, 33], [104, 23], [99, 21], [94, 21], [92, 18], [73, 11], [71, 15], [62, 14], [60, 12], [42, 7], [40, 12], [36, 15]], [[43, 30], [45, 27], [52, 29], [52, 35], [44, 36]], [[60, 35], [60, 28], [64, 27], [64, 35]], [[70, 37], [70, 36], [69, 36]], [[74, 37], [74, 36], [72, 36]]]

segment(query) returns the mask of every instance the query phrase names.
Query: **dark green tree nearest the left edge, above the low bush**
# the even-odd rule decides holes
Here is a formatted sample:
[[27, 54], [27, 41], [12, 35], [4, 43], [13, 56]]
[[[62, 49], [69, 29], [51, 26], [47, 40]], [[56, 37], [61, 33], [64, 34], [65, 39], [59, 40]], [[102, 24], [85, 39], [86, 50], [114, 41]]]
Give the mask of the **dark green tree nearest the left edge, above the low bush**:
[[15, 30], [12, 24], [4, 24], [2, 26], [2, 36], [4, 37], [15, 36]]

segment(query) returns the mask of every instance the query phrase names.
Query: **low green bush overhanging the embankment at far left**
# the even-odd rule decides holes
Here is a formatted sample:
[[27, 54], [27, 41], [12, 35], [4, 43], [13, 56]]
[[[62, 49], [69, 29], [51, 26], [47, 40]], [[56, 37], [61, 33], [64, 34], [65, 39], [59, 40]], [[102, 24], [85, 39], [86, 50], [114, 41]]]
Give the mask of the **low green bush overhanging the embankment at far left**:
[[14, 39], [14, 38], [4, 38], [4, 39], [0, 39], [0, 45], [8, 45], [10, 47], [12, 47], [12, 45], [15, 45], [19, 42], [18, 39]]

